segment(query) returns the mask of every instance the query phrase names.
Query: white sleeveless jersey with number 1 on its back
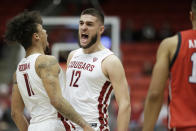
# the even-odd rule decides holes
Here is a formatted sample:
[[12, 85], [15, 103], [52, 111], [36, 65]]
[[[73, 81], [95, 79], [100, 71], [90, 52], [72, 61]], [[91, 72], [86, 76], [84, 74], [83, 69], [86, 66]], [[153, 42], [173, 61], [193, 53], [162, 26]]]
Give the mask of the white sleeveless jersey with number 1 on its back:
[[[20, 94], [31, 115], [28, 131], [65, 131], [56, 109], [50, 104], [42, 80], [36, 73], [35, 61], [39, 55], [41, 54], [23, 58], [16, 71]], [[64, 88], [62, 71], [59, 80], [61, 88]]]

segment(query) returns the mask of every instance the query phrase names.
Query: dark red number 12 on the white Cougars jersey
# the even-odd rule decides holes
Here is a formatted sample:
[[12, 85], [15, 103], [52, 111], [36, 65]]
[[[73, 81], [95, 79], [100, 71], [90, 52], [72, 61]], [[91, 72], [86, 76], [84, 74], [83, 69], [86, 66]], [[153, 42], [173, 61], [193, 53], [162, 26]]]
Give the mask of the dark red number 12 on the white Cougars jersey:
[[75, 71], [75, 70], [72, 71], [71, 81], [69, 84], [70, 87], [78, 87], [77, 82], [80, 78], [80, 75], [81, 75], [81, 71]]

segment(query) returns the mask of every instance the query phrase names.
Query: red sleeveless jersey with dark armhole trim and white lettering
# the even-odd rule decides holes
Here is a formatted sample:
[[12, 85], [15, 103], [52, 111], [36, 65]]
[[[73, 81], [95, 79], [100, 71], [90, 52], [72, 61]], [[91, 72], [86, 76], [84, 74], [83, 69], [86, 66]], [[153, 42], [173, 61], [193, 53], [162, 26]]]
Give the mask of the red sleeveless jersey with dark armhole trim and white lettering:
[[169, 127], [196, 125], [195, 34], [195, 30], [178, 33], [178, 46], [170, 65]]

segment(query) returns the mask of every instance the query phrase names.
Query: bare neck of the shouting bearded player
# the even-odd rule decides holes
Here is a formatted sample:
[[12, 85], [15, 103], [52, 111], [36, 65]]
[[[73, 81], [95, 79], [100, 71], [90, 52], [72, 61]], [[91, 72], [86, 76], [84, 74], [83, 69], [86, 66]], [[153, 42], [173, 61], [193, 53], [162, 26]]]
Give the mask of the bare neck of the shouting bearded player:
[[103, 49], [105, 49], [105, 47], [99, 42], [99, 43], [92, 45], [91, 47], [87, 49], [83, 49], [83, 51], [85, 54], [90, 54], [90, 53], [97, 52]]

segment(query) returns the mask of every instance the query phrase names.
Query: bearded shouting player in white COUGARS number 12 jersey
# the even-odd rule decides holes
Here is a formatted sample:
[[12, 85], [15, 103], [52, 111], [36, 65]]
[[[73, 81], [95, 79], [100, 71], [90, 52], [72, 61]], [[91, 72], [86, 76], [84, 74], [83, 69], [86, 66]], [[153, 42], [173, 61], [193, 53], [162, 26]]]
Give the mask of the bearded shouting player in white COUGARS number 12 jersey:
[[90, 8], [81, 13], [81, 48], [68, 56], [64, 94], [96, 131], [109, 131], [108, 106], [114, 91], [119, 106], [117, 129], [127, 131], [131, 111], [128, 84], [120, 60], [100, 42], [103, 31], [101, 12]]

